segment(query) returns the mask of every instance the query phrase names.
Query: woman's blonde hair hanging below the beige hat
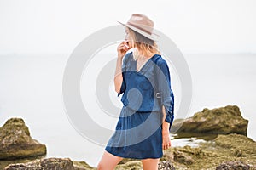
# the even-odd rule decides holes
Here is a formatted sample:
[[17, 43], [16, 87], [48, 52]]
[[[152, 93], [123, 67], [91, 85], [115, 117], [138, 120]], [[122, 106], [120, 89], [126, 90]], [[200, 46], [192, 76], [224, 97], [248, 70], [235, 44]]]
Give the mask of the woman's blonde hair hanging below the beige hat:
[[133, 40], [133, 47], [136, 50], [133, 52], [133, 58], [136, 60], [140, 56], [153, 56], [154, 54], [160, 54], [158, 46], [154, 40], [144, 37], [142, 34], [137, 33], [128, 28], [131, 39]]

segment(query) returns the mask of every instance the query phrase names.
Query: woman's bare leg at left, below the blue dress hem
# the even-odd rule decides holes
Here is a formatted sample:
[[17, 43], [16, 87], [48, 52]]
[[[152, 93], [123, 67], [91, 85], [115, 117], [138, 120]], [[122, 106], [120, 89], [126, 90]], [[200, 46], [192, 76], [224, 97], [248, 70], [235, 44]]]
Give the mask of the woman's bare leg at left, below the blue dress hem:
[[102, 160], [99, 162], [97, 169], [98, 170], [113, 170], [114, 167], [119, 164], [119, 161], [122, 161], [122, 157], [114, 156], [113, 154], [104, 151]]

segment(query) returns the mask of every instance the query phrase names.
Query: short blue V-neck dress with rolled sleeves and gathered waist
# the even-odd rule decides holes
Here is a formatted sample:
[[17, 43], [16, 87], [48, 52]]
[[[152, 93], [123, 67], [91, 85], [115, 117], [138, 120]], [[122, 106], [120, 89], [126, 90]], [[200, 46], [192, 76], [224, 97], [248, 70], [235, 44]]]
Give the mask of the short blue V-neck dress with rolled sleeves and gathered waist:
[[154, 54], [140, 71], [132, 52], [125, 54], [120, 88], [123, 107], [106, 151], [133, 159], [160, 158], [162, 152], [162, 105], [166, 122], [173, 122], [174, 97], [166, 60]]

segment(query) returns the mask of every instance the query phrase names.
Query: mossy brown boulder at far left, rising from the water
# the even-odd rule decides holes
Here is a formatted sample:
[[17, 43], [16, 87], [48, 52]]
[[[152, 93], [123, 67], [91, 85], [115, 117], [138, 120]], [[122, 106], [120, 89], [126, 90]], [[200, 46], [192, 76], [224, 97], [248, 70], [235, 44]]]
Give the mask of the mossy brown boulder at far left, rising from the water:
[[11, 118], [0, 127], [0, 160], [44, 156], [46, 146], [32, 139], [25, 122]]

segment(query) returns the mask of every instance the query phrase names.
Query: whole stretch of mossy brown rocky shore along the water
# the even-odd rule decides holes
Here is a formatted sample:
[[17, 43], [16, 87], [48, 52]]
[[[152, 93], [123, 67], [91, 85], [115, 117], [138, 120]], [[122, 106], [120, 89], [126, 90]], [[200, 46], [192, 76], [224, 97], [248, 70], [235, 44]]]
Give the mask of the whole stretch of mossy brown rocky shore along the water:
[[[188, 119], [176, 120], [172, 133], [176, 133], [177, 138], [185, 135], [206, 140], [195, 147], [165, 150], [159, 169], [256, 170], [256, 142], [247, 137], [247, 124], [236, 105], [204, 109]], [[212, 134], [212, 138], [206, 138]], [[84, 161], [44, 158], [45, 154], [46, 146], [30, 137], [22, 119], [10, 119], [0, 128], [0, 169], [96, 169]], [[22, 160], [17, 160], [20, 158]], [[116, 169], [142, 169], [142, 163], [124, 159]]]

